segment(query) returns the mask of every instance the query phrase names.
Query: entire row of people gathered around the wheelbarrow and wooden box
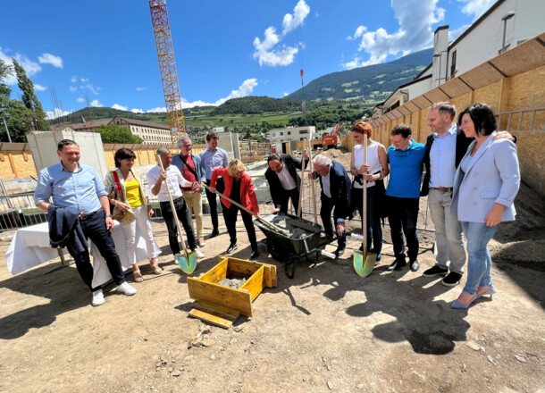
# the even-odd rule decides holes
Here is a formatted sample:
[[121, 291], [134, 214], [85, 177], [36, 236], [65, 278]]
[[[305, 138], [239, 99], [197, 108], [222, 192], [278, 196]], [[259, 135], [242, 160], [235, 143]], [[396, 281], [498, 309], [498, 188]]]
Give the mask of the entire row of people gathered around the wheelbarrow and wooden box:
[[[373, 140], [373, 128], [369, 123], [358, 121], [352, 127], [356, 146], [352, 150], [349, 171], [353, 180], [341, 163], [325, 155], [314, 157], [314, 171], [309, 172], [308, 178], [320, 182], [320, 216], [327, 237], [337, 238], [337, 256], [346, 249], [345, 220], [357, 211], [360, 215], [367, 214], [367, 228], [362, 228], [366, 234], [366, 249], [377, 255], [376, 263], [381, 263], [381, 219], [388, 217], [394, 252], [394, 261], [388, 267], [390, 271], [406, 267], [407, 257], [410, 269], [418, 271], [416, 222], [419, 198], [428, 196], [435, 227], [437, 262], [423, 275], [441, 276], [443, 285], [456, 286], [464, 274], [467, 249], [468, 277], [463, 292], [452, 304], [454, 308], [466, 308], [475, 299], [484, 295], [491, 297], [496, 291], [490, 275], [487, 245], [499, 222], [515, 219], [513, 201], [520, 184], [520, 173], [516, 138], [497, 131], [490, 106], [471, 105], [459, 114], [458, 122], [454, 121], [455, 116], [456, 108], [449, 102], [434, 104], [428, 114], [432, 134], [425, 145], [412, 138], [408, 124], [398, 124], [390, 132], [391, 146], [388, 148]], [[368, 142], [366, 161], [365, 136]], [[251, 246], [250, 259], [259, 256], [252, 223], [252, 216], [259, 217], [254, 184], [245, 172], [244, 164], [237, 159], [230, 161], [225, 150], [217, 146], [218, 136], [214, 132], [206, 136], [206, 143], [208, 147], [200, 155], [191, 153], [188, 137], [177, 141], [180, 155], [172, 155], [165, 147], [159, 148], [157, 165], [147, 173], [146, 189], [140, 172], [133, 168], [136, 155], [130, 149], [121, 148], [115, 153], [115, 169], [108, 172], [103, 182], [91, 166], [79, 163], [80, 146], [76, 142], [69, 139], [59, 142], [57, 155], [61, 162], [40, 171], [35, 200], [38, 207], [48, 213], [50, 238], [53, 241], [55, 234], [55, 239], [61, 239], [55, 244], [67, 247], [82, 280], [92, 291], [92, 305], [101, 305], [105, 299], [102, 289], [92, 286], [93, 267], [89, 261], [87, 238], [91, 238], [105, 258], [117, 291], [128, 296], [136, 293], [125, 280], [113, 243], [111, 212], [122, 217], [123, 252], [132, 264], [134, 280], [143, 280], [136, 256], [137, 229], [146, 241], [152, 271], [161, 274], [157, 263], [160, 249], [149, 222], [154, 213], [148, 201], [149, 193], [159, 200], [175, 262], [182, 257], [176, 218], [186, 232], [190, 252], [196, 253], [197, 258], [204, 257], [199, 249], [205, 246], [203, 188], [213, 224], [209, 238], [219, 234], [216, 195], [220, 194], [223, 219], [230, 237], [226, 253], [231, 254], [238, 248], [236, 222], [240, 211]], [[301, 180], [297, 170], [306, 167], [308, 161], [306, 152], [303, 160], [291, 155], [268, 156], [265, 178], [271, 189], [272, 213], [288, 213], [289, 200], [298, 210]], [[383, 180], [387, 176], [390, 179], [385, 188]], [[366, 212], [363, 212], [362, 203], [364, 186], [367, 188]], [[196, 217], [197, 231], [193, 229], [192, 213]], [[462, 233], [467, 239], [467, 247]]]

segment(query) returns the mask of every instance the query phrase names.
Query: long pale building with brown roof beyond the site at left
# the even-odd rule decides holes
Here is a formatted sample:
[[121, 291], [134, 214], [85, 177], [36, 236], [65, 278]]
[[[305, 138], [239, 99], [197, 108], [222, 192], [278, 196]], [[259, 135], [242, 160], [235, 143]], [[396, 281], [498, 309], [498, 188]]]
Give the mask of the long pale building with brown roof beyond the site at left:
[[83, 123], [66, 124], [54, 127], [51, 130], [74, 130], [96, 132], [96, 129], [104, 125], [116, 125], [130, 130], [132, 135], [142, 138], [143, 144], [171, 144], [171, 130], [164, 124], [152, 123], [115, 116], [112, 120], [86, 121]]

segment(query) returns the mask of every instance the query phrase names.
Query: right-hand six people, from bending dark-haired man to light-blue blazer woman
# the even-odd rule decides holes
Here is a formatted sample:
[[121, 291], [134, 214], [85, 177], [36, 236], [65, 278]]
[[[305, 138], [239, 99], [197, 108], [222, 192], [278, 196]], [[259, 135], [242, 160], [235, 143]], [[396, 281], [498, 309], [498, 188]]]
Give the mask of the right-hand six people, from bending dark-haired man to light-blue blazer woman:
[[[467, 107], [458, 115], [457, 122], [455, 116], [455, 105], [434, 104], [428, 113], [432, 134], [425, 145], [417, 143], [410, 126], [402, 123], [390, 131], [388, 148], [373, 141], [369, 123], [358, 121], [352, 127], [356, 142], [349, 168], [354, 176], [352, 183], [342, 164], [324, 155], [314, 157], [314, 171], [309, 178], [320, 180], [323, 229], [330, 238], [336, 232], [338, 256], [346, 248], [345, 220], [355, 210], [360, 215], [364, 213], [365, 184], [366, 249], [377, 255], [376, 263], [381, 263], [381, 219], [388, 217], [394, 253], [389, 271], [405, 268], [407, 258], [411, 271], [420, 268], [416, 223], [419, 199], [427, 196], [435, 227], [436, 263], [423, 276], [440, 276], [443, 285], [454, 287], [463, 278], [467, 259], [465, 288], [452, 304], [453, 308], [467, 308], [475, 299], [491, 297], [496, 292], [487, 246], [500, 222], [515, 220], [513, 202], [520, 185], [520, 172], [516, 138], [508, 132], [498, 132], [489, 105]], [[296, 169], [301, 168], [302, 162], [289, 155], [270, 155], [268, 162], [265, 176], [271, 186], [275, 211], [286, 213], [289, 198], [294, 206], [298, 203], [300, 183]], [[426, 171], [422, 180], [423, 168]], [[383, 180], [387, 176], [390, 179], [385, 188]], [[331, 224], [332, 211], [335, 228]]]

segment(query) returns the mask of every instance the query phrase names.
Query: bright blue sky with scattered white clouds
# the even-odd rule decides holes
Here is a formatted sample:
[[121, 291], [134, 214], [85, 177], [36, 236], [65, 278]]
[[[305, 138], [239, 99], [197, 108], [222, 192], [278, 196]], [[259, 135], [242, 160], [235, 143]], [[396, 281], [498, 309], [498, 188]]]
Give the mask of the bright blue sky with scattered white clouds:
[[[167, 0], [184, 108], [282, 97], [325, 74], [456, 38], [495, 0]], [[0, 59], [15, 57], [47, 112], [164, 111], [147, 0], [4, 0]], [[14, 78], [7, 79], [17, 97]], [[58, 113], [59, 111], [57, 111]]]

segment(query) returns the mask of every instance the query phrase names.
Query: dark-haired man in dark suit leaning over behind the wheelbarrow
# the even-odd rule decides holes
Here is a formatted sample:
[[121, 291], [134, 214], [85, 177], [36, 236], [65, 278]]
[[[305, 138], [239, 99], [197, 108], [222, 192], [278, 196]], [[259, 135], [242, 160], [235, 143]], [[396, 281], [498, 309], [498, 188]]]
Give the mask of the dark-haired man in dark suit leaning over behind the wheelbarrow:
[[[305, 158], [305, 168], [308, 163], [306, 152], [303, 152]], [[269, 182], [271, 190], [272, 203], [274, 210], [272, 213], [288, 213], [288, 202], [291, 198], [291, 204], [295, 211], [298, 211], [299, 192], [301, 190], [301, 179], [299, 179], [297, 170], [301, 170], [302, 161], [293, 158], [291, 155], [277, 155], [273, 153], [267, 158], [269, 168], [265, 171], [265, 178]]]

